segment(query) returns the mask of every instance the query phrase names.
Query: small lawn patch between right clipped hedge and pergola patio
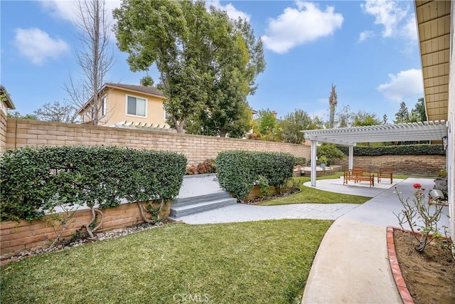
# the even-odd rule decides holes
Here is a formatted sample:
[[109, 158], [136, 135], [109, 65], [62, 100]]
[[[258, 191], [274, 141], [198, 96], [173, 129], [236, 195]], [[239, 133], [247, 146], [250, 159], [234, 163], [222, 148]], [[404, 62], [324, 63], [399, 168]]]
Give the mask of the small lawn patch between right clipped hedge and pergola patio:
[[[318, 177], [317, 179], [337, 179], [343, 176], [343, 172], [336, 172], [335, 174], [326, 177]], [[309, 177], [293, 177], [299, 182], [301, 192], [291, 194], [288, 196], [280, 197], [279, 199], [272, 199], [269, 201], [262, 201], [259, 205], [272, 206], [272, 205], [286, 205], [286, 204], [302, 204], [302, 203], [317, 203], [317, 204], [363, 204], [365, 201], [371, 199], [370, 197], [339, 194], [334, 192], [323, 191], [311, 187], [305, 187], [304, 182], [309, 182]]]

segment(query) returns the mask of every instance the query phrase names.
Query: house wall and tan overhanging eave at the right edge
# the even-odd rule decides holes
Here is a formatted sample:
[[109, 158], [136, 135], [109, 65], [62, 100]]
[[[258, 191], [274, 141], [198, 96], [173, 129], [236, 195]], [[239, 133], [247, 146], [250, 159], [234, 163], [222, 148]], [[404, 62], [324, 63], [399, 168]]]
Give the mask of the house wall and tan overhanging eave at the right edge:
[[446, 120], [449, 214], [455, 239], [455, 1], [414, 1], [428, 120]]

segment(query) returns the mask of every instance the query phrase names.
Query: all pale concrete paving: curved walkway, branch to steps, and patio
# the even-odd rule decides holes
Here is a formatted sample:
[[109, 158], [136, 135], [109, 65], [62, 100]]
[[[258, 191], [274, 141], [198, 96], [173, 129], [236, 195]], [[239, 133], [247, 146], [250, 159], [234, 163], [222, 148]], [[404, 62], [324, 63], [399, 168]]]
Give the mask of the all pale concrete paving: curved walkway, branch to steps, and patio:
[[[394, 182], [397, 184], [390, 189], [343, 186], [336, 179], [316, 182], [316, 189], [372, 197], [361, 205], [236, 204], [183, 216], [181, 219], [188, 224], [264, 219], [336, 219], [316, 253], [302, 303], [402, 303], [390, 269], [386, 241], [386, 227], [399, 226], [393, 213], [402, 209], [395, 187], [406, 199], [413, 196], [414, 183], [419, 182], [423, 188], [431, 189], [434, 182], [433, 179], [412, 178]], [[444, 212], [449, 214], [447, 207], [444, 207]], [[445, 215], [441, 218], [441, 225], [444, 224], [449, 226], [449, 219]]]

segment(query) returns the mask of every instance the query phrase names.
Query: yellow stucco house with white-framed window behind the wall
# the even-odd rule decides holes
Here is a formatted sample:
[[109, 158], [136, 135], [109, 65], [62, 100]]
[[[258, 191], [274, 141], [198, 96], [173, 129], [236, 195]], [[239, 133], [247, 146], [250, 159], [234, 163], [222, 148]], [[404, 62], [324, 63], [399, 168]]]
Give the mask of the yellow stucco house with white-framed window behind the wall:
[[[123, 83], [105, 83], [100, 90], [100, 106], [98, 107], [99, 125], [114, 127], [125, 122], [134, 124], [159, 125], [166, 124], [166, 112], [161, 90], [143, 85]], [[90, 124], [93, 120], [92, 100], [77, 112], [82, 123]]]

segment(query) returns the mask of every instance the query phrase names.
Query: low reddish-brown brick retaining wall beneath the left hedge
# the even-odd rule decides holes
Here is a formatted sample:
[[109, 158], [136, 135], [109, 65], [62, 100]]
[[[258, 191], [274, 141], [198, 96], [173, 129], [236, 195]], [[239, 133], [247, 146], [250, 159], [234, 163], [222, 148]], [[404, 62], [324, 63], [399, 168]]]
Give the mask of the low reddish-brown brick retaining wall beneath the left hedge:
[[[170, 205], [164, 214], [169, 214]], [[145, 205], [144, 205], [145, 206]], [[102, 209], [104, 214], [103, 224], [97, 231], [119, 229], [144, 223], [137, 204], [122, 204], [119, 206]], [[70, 239], [77, 229], [84, 226], [92, 219], [92, 211], [84, 209], [75, 211], [68, 221], [68, 226], [60, 237]], [[3, 221], [0, 225], [0, 258], [9, 258], [21, 251], [33, 251], [50, 244], [55, 239], [53, 225], [61, 230], [60, 222], [53, 221], [45, 216], [41, 221]], [[60, 227], [60, 229], [59, 229]], [[85, 232], [85, 229], [84, 231]]]

